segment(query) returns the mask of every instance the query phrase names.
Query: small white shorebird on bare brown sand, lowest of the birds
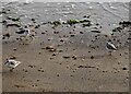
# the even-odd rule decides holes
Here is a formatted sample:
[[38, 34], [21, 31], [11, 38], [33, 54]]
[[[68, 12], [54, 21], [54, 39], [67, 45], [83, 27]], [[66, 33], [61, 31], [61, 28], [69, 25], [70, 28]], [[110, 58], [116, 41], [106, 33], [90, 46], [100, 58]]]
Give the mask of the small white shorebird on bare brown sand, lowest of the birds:
[[5, 61], [4, 64], [5, 64], [8, 68], [11, 68], [10, 71], [12, 72], [13, 69], [16, 68], [20, 63], [21, 63], [21, 61], [16, 61], [16, 60], [13, 60], [13, 59], [9, 59], [9, 60]]

